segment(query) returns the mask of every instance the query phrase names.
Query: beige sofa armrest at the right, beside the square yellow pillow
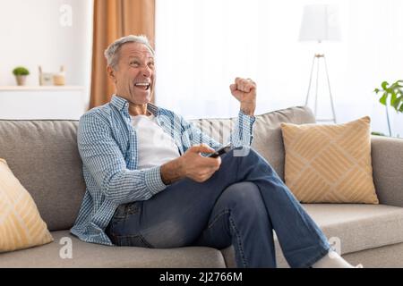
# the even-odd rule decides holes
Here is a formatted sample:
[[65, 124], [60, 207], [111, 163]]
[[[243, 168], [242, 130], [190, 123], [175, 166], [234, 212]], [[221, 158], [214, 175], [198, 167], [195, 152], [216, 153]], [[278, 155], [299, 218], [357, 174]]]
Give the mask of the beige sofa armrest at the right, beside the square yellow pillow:
[[372, 136], [371, 156], [380, 203], [403, 206], [403, 139]]

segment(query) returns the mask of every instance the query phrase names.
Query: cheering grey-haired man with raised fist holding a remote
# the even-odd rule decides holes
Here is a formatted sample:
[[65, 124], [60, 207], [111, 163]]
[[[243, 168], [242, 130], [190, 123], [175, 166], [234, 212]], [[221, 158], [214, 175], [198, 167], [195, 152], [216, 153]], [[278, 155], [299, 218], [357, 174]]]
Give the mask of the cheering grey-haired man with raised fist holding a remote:
[[[236, 78], [230, 85], [240, 102], [230, 136], [234, 148], [207, 157], [201, 153], [212, 153], [218, 142], [180, 115], [150, 104], [154, 52], [147, 38], [117, 39], [105, 55], [116, 94], [80, 119], [87, 190], [74, 235], [144, 248], [233, 245], [237, 266], [275, 267], [274, 229], [292, 267], [351, 267], [330, 250], [270, 164], [249, 147], [253, 80]], [[172, 84], [180, 88], [180, 74], [178, 79]]]

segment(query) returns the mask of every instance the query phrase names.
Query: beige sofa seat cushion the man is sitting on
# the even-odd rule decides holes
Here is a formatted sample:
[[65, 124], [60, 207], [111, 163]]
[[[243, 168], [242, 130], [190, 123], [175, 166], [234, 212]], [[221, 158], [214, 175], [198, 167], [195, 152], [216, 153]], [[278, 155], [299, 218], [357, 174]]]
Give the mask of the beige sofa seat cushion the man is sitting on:
[[[37, 248], [0, 254], [2, 267], [225, 267], [221, 252], [214, 248], [109, 247], [78, 240], [69, 231], [52, 231], [55, 241]], [[73, 257], [62, 259], [64, 237], [70, 238]]]

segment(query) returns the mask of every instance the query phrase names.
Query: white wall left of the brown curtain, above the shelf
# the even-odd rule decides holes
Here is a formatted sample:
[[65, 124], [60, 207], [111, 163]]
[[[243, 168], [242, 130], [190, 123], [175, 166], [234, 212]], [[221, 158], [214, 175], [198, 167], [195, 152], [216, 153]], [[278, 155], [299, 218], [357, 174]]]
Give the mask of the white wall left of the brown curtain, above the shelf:
[[[72, 25], [61, 24], [63, 4], [72, 7]], [[13, 68], [30, 70], [27, 85], [39, 85], [38, 66], [59, 71], [66, 85], [90, 88], [92, 0], [0, 0], [0, 85], [15, 85]], [[65, 21], [64, 21], [65, 22]]]

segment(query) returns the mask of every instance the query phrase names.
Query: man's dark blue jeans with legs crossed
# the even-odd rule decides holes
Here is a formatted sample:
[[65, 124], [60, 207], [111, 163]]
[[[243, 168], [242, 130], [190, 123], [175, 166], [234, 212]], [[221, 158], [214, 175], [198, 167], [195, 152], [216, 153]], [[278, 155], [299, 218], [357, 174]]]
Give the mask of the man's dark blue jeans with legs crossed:
[[176, 181], [121, 205], [107, 226], [118, 246], [234, 246], [238, 267], [276, 267], [273, 230], [291, 267], [309, 267], [330, 245], [270, 164], [252, 148], [221, 156], [209, 180]]

